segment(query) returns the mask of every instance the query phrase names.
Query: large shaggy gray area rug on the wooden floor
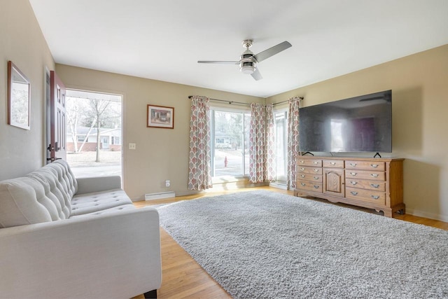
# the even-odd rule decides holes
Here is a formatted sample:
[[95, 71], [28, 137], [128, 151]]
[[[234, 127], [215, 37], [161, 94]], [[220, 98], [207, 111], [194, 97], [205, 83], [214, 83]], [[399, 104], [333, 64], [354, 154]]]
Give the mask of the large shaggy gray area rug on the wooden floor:
[[234, 298], [448, 298], [448, 231], [266, 190], [158, 208]]

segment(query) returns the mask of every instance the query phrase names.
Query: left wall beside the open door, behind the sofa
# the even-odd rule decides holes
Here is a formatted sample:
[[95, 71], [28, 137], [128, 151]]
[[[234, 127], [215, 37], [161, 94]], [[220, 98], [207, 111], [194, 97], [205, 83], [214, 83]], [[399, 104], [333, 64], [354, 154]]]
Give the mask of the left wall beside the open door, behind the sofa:
[[[45, 67], [55, 68], [28, 0], [1, 1], [0, 180], [45, 164]], [[11, 60], [31, 81], [31, 130], [8, 125], [7, 68]]]

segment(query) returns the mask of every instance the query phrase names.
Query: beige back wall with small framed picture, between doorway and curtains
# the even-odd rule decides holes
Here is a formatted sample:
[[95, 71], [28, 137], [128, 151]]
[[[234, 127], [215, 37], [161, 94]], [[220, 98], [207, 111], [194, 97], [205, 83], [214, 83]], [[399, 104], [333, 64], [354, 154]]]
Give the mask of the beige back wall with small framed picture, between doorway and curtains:
[[[191, 193], [187, 189], [191, 103], [189, 95], [204, 95], [237, 102], [265, 102], [265, 99], [258, 97], [62, 64], [56, 65], [56, 72], [66, 88], [112, 92], [124, 96], [123, 185], [132, 200], [142, 200], [146, 193]], [[174, 107], [174, 129], [146, 127], [147, 104]], [[129, 143], [137, 144], [137, 149], [129, 150]], [[170, 188], [165, 188], [165, 179], [171, 181]]]

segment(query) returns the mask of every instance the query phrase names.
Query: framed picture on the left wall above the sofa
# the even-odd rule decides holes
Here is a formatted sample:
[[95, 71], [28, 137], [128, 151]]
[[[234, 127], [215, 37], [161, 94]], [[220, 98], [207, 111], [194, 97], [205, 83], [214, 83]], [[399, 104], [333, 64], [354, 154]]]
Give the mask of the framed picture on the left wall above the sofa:
[[8, 61], [8, 125], [31, 129], [31, 83], [27, 76]]

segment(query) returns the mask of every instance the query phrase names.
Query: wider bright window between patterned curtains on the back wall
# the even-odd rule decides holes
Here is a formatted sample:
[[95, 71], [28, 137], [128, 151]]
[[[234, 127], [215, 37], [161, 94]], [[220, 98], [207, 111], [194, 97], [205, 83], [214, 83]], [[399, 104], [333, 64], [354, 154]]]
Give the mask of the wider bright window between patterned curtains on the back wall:
[[249, 165], [251, 113], [211, 108], [212, 176], [244, 176]]

